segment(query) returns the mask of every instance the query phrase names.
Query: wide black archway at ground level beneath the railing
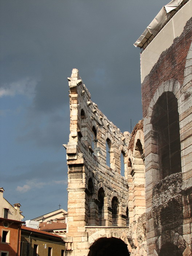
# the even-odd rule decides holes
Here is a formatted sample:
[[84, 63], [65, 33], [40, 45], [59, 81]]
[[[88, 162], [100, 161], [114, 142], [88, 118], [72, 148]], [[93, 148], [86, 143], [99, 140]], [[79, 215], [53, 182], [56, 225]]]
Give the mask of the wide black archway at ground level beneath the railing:
[[102, 237], [89, 248], [88, 256], [129, 256], [127, 245], [119, 238]]

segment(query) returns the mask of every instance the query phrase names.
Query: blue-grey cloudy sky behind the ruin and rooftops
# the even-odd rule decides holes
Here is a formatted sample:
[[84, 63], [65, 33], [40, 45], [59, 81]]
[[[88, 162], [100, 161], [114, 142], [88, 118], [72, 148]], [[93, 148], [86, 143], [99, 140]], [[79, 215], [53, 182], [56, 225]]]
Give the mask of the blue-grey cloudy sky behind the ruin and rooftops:
[[67, 77], [117, 127], [142, 119], [133, 43], [168, 1], [1, 0], [0, 187], [25, 220], [67, 210]]

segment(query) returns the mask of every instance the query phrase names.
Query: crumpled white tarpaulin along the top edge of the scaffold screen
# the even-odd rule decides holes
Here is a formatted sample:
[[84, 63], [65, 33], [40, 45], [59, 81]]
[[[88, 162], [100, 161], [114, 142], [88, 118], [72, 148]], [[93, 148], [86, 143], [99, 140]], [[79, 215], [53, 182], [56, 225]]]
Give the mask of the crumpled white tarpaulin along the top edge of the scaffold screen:
[[148, 25], [139, 39], [135, 42], [135, 47], [144, 48], [147, 43], [153, 39], [156, 33], [159, 32], [160, 28], [165, 24], [165, 22], [175, 13], [170, 14], [170, 12], [178, 8], [179, 5], [186, 1], [187, 0], [172, 0], [170, 3], [165, 5], [157, 14], [155, 19], [153, 19]]

